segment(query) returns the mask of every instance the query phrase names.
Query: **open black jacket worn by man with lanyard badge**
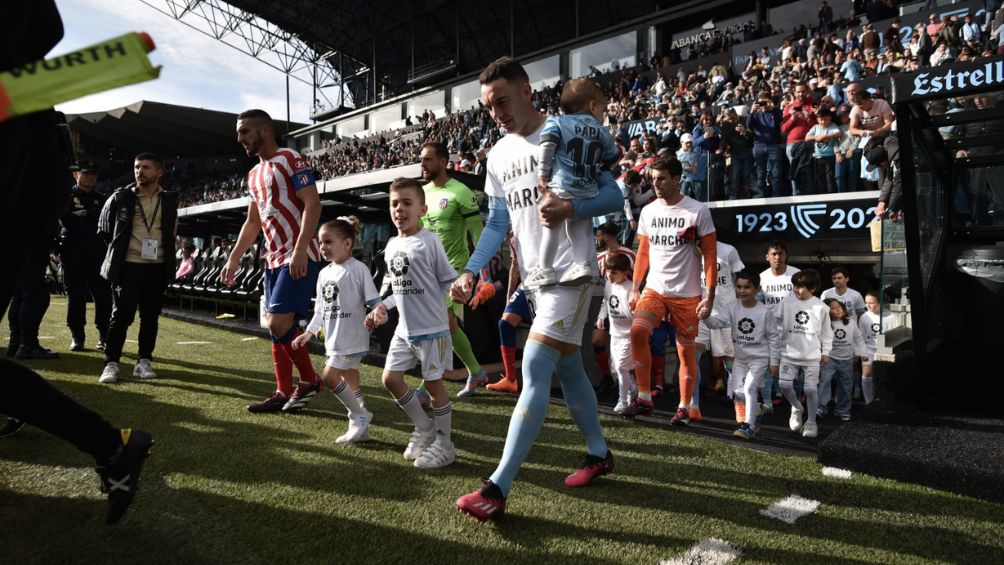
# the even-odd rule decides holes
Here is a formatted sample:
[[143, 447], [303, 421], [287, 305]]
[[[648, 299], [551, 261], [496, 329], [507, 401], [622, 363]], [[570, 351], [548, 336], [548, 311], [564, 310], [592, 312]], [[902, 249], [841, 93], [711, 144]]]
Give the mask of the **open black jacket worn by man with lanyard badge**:
[[[161, 210], [158, 217], [161, 220], [161, 232], [164, 241], [161, 250], [164, 257], [164, 279], [171, 281], [175, 277], [175, 236], [178, 232], [178, 193], [162, 191]], [[133, 236], [133, 215], [136, 214], [136, 185], [129, 185], [116, 190], [104, 203], [101, 217], [97, 222], [97, 233], [108, 245], [108, 251], [101, 263], [101, 276], [111, 282], [117, 282], [121, 273], [126, 254], [129, 252], [129, 241]]]

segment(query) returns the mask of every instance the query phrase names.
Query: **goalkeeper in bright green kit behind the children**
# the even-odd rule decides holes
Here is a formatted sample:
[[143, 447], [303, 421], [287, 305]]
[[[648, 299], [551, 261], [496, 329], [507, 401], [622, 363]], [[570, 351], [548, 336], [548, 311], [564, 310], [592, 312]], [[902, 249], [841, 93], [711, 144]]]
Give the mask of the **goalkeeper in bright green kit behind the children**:
[[[429, 213], [422, 218], [422, 225], [439, 236], [450, 264], [460, 272], [471, 258], [471, 247], [481, 237], [481, 209], [475, 202], [471, 189], [446, 174], [446, 166], [450, 161], [446, 146], [426, 142], [422, 145], [421, 155], [422, 179], [429, 181], [424, 187]], [[471, 348], [471, 341], [460, 327], [459, 319], [463, 316], [464, 305], [450, 300], [449, 296], [445, 298], [453, 352], [467, 367], [467, 385], [457, 395], [466, 398], [473, 396], [479, 386], [488, 384], [488, 374], [481, 368]]]

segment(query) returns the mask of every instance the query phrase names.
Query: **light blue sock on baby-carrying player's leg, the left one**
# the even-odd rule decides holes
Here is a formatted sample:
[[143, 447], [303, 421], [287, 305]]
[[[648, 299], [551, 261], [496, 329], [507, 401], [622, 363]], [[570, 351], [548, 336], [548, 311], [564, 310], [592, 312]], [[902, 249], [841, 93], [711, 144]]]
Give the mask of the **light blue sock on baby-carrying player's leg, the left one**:
[[551, 394], [551, 375], [558, 356], [556, 349], [539, 341], [527, 341], [523, 347], [523, 391], [509, 419], [502, 459], [491, 476], [492, 483], [503, 496], [509, 496], [512, 482], [544, 423]]

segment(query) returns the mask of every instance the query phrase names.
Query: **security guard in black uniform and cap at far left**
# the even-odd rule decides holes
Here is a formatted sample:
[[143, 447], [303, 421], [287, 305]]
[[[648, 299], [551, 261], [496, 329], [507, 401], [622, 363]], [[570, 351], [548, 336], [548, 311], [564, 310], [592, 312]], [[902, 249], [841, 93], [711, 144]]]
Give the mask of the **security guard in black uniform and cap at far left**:
[[94, 162], [82, 162], [73, 173], [73, 178], [76, 185], [71, 189], [69, 209], [59, 219], [66, 326], [72, 335], [69, 348], [72, 351], [84, 348], [89, 296], [94, 301], [97, 349], [103, 350], [111, 318], [111, 287], [100, 274], [107, 246], [97, 237], [97, 218], [101, 215], [105, 198], [94, 191], [97, 184], [97, 165]]

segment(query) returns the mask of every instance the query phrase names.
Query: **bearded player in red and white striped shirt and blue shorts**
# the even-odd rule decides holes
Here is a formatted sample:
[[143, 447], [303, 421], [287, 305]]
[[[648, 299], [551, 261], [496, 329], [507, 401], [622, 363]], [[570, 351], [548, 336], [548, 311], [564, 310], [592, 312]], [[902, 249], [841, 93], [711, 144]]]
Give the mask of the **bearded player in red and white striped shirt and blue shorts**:
[[[276, 390], [261, 402], [248, 405], [252, 412], [295, 411], [320, 390], [320, 379], [305, 347], [293, 349], [300, 333], [297, 316], [310, 308], [310, 297], [320, 270], [317, 220], [320, 198], [313, 171], [300, 154], [280, 148], [275, 140], [272, 118], [263, 110], [250, 109], [237, 116], [237, 142], [258, 165], [248, 173], [251, 202], [220, 278], [234, 284], [241, 256], [265, 230], [265, 312], [272, 334], [272, 361]], [[293, 365], [300, 382], [293, 389]]]

